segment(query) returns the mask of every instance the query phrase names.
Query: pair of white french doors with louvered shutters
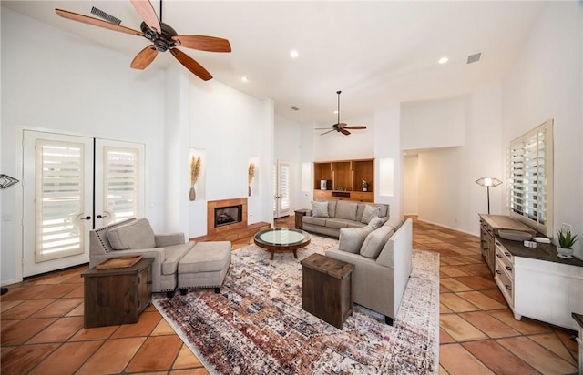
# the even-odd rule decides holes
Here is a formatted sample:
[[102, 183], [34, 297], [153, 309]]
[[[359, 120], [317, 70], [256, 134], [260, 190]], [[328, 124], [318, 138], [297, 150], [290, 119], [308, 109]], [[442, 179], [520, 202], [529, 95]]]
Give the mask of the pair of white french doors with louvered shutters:
[[23, 276], [87, 263], [89, 230], [143, 212], [143, 145], [25, 131]]

